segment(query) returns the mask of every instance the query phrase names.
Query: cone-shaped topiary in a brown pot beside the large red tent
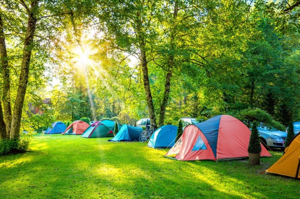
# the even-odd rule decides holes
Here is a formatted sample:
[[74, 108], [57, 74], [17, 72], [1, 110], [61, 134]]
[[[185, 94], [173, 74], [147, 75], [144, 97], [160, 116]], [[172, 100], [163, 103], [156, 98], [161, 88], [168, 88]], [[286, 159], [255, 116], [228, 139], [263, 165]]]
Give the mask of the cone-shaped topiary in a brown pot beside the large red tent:
[[260, 153], [262, 151], [262, 147], [259, 142], [259, 133], [257, 130], [256, 121], [253, 122], [251, 136], [248, 146], [248, 154], [249, 154], [249, 163], [251, 165], [259, 165]]

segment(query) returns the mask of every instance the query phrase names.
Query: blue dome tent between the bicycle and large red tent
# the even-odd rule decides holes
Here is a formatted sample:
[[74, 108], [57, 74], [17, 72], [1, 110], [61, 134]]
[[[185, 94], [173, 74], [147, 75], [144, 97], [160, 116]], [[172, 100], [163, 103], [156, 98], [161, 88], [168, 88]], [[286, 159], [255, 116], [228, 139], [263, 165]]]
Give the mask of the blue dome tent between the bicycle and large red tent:
[[148, 147], [151, 148], [171, 148], [175, 144], [178, 127], [174, 125], [164, 125], [159, 127], [150, 137]]

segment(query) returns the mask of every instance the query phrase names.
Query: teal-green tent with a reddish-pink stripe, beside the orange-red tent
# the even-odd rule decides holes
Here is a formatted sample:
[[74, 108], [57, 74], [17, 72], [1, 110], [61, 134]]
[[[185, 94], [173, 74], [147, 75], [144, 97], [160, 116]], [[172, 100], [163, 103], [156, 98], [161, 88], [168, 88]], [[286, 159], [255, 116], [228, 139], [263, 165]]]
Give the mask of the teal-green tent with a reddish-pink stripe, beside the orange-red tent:
[[[119, 125], [119, 124], [118, 124]], [[113, 137], [115, 122], [112, 120], [100, 120], [91, 124], [81, 135], [81, 137]]]

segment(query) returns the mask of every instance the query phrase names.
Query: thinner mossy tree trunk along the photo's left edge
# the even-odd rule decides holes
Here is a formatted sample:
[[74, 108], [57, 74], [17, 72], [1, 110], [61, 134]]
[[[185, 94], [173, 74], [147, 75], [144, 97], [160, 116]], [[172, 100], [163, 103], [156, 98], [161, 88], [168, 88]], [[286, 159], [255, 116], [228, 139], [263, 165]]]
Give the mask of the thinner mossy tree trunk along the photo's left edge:
[[[2, 74], [3, 74], [3, 110], [4, 110], [4, 118], [1, 108], [2, 118], [5, 120], [6, 124], [6, 134], [9, 137], [10, 134], [10, 124], [11, 124], [11, 106], [10, 106], [10, 75], [9, 75], [9, 66], [8, 66], [8, 58], [7, 58], [7, 50], [5, 44], [5, 36], [4, 36], [4, 27], [2, 22], [2, 17], [0, 13], [0, 54], [1, 54], [1, 66], [2, 66]], [[0, 124], [1, 125], [1, 124]], [[3, 128], [0, 127], [0, 128]], [[2, 137], [4, 138], [4, 137]]]

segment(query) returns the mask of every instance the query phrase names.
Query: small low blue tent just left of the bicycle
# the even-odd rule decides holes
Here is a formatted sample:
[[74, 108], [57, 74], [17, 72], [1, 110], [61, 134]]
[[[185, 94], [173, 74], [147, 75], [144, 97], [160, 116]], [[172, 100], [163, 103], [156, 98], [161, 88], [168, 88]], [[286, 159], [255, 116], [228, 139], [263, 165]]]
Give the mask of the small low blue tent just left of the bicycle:
[[116, 136], [113, 139], [109, 139], [108, 141], [120, 142], [120, 141], [139, 140], [142, 132], [143, 132], [143, 129], [141, 127], [133, 127], [133, 126], [124, 124], [120, 128], [120, 130], [116, 134]]

